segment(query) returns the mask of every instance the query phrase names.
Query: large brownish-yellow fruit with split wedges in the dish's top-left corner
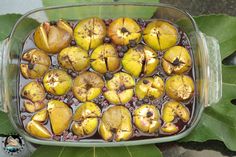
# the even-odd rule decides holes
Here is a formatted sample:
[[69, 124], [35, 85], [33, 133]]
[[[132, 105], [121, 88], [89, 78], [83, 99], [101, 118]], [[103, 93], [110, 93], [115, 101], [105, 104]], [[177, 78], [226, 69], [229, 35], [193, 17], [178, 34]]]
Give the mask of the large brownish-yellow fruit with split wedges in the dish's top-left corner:
[[55, 54], [70, 44], [72, 32], [72, 28], [63, 20], [58, 21], [56, 25], [44, 22], [36, 28], [34, 42], [38, 48]]

